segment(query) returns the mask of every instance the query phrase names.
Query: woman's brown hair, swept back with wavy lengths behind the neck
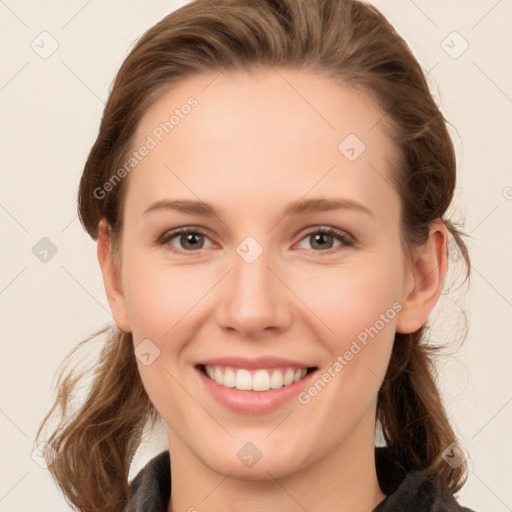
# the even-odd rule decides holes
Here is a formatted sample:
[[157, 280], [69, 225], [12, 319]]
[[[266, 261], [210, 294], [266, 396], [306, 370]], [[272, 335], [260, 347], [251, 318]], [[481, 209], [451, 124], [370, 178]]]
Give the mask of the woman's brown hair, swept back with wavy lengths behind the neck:
[[[117, 256], [128, 180], [101, 199], [95, 190], [133, 150], [141, 116], [159, 95], [194, 74], [255, 66], [314, 70], [372, 94], [386, 112], [383, 126], [399, 155], [394, 180], [405, 247], [424, 243], [432, 221], [441, 219], [469, 275], [463, 233], [445, 218], [456, 180], [446, 121], [405, 41], [375, 7], [356, 0], [196, 0], [146, 32], [117, 74], [81, 178], [79, 217], [94, 240], [105, 218]], [[425, 328], [395, 335], [377, 418], [393, 456], [408, 471], [427, 471], [457, 492], [467, 467], [463, 462], [453, 468], [441, 458], [456, 436], [434, 377], [433, 353], [439, 347], [426, 343]], [[83, 512], [117, 512], [126, 505], [132, 457], [145, 426], [158, 417], [133, 352], [131, 334], [114, 328], [83, 405], [68, 414], [83, 375], [61, 373], [58, 397], [38, 432], [60, 412], [47, 439], [59, 454], [50, 471]]]

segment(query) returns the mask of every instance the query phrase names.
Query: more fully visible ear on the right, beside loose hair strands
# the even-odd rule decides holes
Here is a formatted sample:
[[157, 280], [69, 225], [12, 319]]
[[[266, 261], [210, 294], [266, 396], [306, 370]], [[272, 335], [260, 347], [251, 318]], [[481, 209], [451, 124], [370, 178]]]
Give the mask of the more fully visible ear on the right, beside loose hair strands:
[[415, 332], [427, 321], [441, 295], [446, 270], [448, 231], [441, 220], [430, 225], [424, 245], [414, 248], [405, 279], [402, 310], [397, 316], [397, 332]]

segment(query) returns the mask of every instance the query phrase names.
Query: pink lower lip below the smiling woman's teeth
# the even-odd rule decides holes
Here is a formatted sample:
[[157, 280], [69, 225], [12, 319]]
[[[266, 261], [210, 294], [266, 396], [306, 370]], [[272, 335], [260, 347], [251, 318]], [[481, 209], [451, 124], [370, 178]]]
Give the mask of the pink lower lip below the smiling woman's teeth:
[[308, 373], [303, 379], [289, 386], [268, 391], [242, 391], [236, 388], [227, 388], [217, 384], [207, 377], [199, 368], [196, 368], [206, 389], [222, 405], [243, 414], [264, 414], [278, 409], [285, 402], [297, 397], [305, 388], [316, 370]]

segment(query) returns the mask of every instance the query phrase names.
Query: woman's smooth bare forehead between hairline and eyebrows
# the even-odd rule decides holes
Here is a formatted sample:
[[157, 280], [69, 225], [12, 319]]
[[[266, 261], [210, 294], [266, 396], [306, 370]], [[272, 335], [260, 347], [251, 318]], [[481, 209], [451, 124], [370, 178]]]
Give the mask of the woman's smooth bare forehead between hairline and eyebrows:
[[132, 149], [151, 149], [129, 175], [126, 201], [215, 202], [222, 192], [257, 208], [333, 187], [366, 202], [391, 197], [396, 150], [384, 117], [369, 94], [312, 71], [196, 75], [169, 87], [141, 119]]

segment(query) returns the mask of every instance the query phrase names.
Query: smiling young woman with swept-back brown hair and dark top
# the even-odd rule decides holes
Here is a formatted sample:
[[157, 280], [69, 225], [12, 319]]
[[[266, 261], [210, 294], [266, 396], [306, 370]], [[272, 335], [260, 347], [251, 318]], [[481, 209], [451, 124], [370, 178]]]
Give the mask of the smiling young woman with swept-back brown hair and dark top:
[[[49, 413], [69, 502], [468, 511], [426, 339], [449, 243], [469, 272], [455, 178], [421, 67], [369, 5], [197, 0], [149, 30], [80, 183], [116, 328], [76, 414], [73, 373]], [[129, 483], [157, 418], [169, 451]]]

